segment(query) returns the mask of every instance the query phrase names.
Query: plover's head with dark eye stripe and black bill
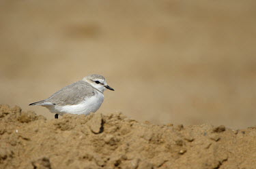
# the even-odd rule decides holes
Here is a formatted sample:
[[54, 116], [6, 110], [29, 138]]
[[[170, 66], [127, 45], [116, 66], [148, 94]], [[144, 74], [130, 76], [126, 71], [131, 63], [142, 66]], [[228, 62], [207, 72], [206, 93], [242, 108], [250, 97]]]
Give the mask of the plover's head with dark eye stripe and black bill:
[[94, 88], [100, 90], [100, 92], [104, 92], [106, 89], [114, 91], [114, 89], [106, 83], [106, 79], [102, 75], [89, 75], [83, 77], [83, 81], [86, 81]]

